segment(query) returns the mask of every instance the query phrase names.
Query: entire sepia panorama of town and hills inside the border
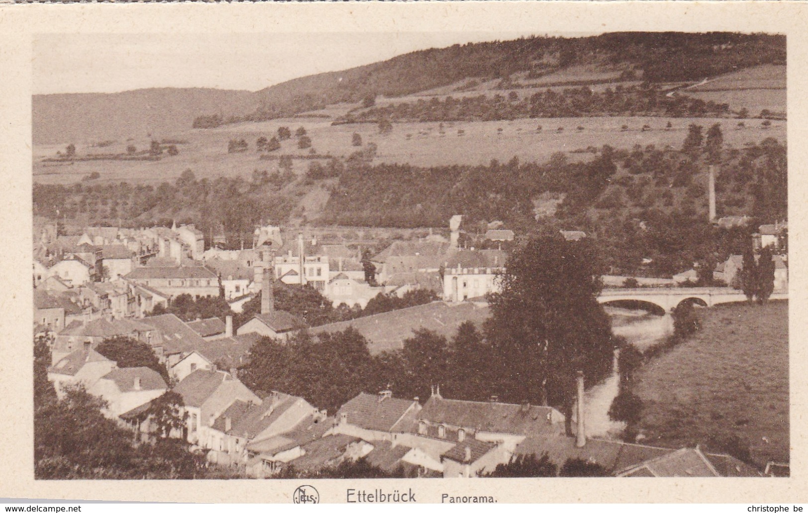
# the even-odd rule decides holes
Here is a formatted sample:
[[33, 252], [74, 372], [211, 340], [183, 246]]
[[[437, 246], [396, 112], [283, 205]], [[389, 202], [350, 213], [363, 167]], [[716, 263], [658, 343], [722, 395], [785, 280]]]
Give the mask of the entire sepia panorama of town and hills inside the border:
[[36, 479], [789, 476], [785, 36], [40, 35], [33, 92]]

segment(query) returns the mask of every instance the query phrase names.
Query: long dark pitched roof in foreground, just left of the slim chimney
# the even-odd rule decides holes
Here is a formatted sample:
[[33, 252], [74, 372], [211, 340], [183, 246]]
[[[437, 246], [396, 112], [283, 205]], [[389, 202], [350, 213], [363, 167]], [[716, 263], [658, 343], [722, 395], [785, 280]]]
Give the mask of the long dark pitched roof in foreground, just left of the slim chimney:
[[564, 432], [564, 416], [549, 406], [460, 401], [432, 396], [419, 411], [418, 418], [491, 433], [538, 436]]

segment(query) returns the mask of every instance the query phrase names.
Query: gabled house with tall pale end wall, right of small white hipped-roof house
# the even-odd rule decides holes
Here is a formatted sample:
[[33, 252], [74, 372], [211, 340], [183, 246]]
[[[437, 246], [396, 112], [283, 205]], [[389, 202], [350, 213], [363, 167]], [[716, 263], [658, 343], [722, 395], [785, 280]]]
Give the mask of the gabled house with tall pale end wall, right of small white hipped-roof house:
[[187, 418], [187, 440], [207, 447], [213, 422], [237, 399], [260, 403], [261, 398], [229, 372], [197, 370], [173, 389], [183, 397]]

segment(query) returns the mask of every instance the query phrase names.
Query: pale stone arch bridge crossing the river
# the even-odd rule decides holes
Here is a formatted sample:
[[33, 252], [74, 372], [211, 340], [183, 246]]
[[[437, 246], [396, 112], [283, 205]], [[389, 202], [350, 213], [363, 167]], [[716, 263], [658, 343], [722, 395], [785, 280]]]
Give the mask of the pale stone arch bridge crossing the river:
[[[769, 299], [788, 299], [788, 292], [775, 292]], [[671, 312], [684, 301], [695, 305], [713, 306], [747, 301], [743, 292], [729, 287], [671, 287], [671, 288], [604, 288], [598, 296], [600, 304], [614, 301], [642, 301]]]

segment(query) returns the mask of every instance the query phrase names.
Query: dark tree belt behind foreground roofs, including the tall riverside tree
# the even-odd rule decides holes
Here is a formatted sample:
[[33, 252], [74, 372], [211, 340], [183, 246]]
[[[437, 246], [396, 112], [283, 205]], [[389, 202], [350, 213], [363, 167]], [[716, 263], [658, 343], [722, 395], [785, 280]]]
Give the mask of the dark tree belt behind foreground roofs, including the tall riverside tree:
[[[482, 332], [465, 322], [452, 338], [419, 330], [400, 351], [371, 355], [356, 330], [302, 333], [288, 343], [256, 343], [240, 378], [256, 393], [284, 390], [331, 412], [361, 391], [391, 389], [398, 397], [446, 397], [556, 406], [570, 417], [574, 380], [608, 375], [611, 324], [596, 300], [600, 290], [587, 242], [558, 234], [516, 250], [492, 296]], [[276, 369], [267, 372], [267, 368]]]

